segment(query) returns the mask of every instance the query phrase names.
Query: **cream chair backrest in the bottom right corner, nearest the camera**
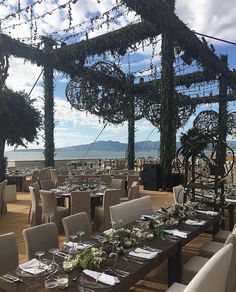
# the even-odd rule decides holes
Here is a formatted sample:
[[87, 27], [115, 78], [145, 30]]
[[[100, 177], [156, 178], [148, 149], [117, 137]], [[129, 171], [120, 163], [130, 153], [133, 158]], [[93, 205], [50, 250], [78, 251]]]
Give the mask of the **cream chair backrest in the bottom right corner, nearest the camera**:
[[228, 244], [220, 249], [201, 268], [184, 292], [223, 292], [232, 259], [233, 246]]

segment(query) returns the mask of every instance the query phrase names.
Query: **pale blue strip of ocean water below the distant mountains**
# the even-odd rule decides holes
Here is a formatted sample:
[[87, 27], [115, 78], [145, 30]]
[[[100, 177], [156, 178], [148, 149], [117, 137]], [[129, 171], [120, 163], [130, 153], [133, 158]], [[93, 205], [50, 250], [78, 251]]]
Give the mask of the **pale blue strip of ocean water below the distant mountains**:
[[[125, 158], [125, 151], [89, 151], [85, 157], [84, 152], [81, 151], [58, 151], [55, 156], [55, 160], [76, 160], [82, 158], [97, 158], [97, 159], [112, 159], [112, 158]], [[135, 156], [137, 157], [150, 157], [158, 156], [158, 150], [150, 151], [137, 151]], [[31, 160], [44, 160], [43, 151], [9, 151], [5, 153], [5, 156], [9, 161], [31, 161]]]

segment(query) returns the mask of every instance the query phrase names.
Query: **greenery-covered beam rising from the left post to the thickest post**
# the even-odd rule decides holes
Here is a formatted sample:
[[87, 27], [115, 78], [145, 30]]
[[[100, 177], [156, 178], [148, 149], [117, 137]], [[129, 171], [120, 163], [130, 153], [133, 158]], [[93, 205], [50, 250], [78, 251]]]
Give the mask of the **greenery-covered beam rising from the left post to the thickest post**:
[[106, 34], [56, 49], [53, 62], [72, 62], [85, 56], [101, 55], [107, 51], [124, 55], [134, 44], [161, 34], [160, 27], [147, 21], [131, 24]]

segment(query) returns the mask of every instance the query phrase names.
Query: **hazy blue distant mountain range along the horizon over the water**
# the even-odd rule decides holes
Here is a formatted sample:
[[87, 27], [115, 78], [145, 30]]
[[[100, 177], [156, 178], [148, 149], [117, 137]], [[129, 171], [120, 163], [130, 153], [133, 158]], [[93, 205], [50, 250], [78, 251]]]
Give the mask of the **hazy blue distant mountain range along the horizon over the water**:
[[[236, 149], [236, 141], [228, 141], [228, 145], [232, 149]], [[93, 143], [90, 144], [84, 144], [84, 145], [76, 145], [76, 146], [70, 146], [70, 147], [63, 147], [63, 148], [57, 148], [57, 152], [63, 152], [63, 151], [86, 151], [91, 147], [91, 151], [126, 151], [127, 150], [127, 143], [121, 143], [118, 141], [97, 141], [93, 145]], [[180, 147], [180, 143], [177, 142], [177, 149]], [[160, 141], [141, 141], [135, 143], [135, 151], [150, 151], [150, 150], [160, 150]], [[39, 152], [43, 151], [43, 149], [16, 149], [14, 151], [30, 151], [30, 152]]]

